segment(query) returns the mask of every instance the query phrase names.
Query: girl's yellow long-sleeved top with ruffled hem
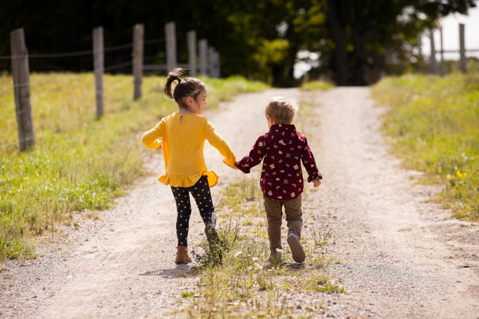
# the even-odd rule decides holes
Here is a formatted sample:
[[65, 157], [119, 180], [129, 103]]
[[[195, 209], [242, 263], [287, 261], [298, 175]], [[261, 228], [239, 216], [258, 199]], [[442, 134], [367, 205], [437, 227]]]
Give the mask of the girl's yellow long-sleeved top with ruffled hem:
[[[183, 118], [182, 121], [180, 118]], [[163, 149], [166, 173], [158, 180], [175, 187], [193, 186], [203, 175], [208, 177], [210, 187], [217, 183], [218, 176], [206, 168], [203, 156], [205, 140], [220, 151], [227, 165], [234, 166], [236, 158], [227, 142], [203, 116], [175, 112], [162, 118], [154, 128], [142, 135], [146, 147]]]

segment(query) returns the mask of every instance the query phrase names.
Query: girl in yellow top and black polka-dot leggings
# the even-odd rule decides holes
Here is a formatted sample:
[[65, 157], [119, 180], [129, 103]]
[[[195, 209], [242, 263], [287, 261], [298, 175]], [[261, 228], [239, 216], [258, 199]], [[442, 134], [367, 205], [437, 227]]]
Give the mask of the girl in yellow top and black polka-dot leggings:
[[[205, 83], [195, 78], [180, 79], [186, 70], [177, 68], [168, 74], [165, 94], [178, 104], [178, 111], [162, 118], [154, 128], [144, 133], [142, 142], [149, 149], [163, 147], [165, 175], [159, 181], [171, 186], [176, 201], [176, 235], [178, 246], [176, 264], [191, 262], [187, 250], [187, 237], [193, 195], [201, 218], [205, 222], [205, 234], [210, 245], [218, 242], [215, 231], [216, 215], [211, 201], [210, 187], [215, 186], [218, 177], [206, 170], [203, 146], [205, 140], [220, 151], [225, 163], [234, 166], [236, 158], [207, 118], [200, 116], [206, 105]], [[177, 81], [173, 94], [171, 85]], [[159, 137], [163, 139], [163, 145]]]

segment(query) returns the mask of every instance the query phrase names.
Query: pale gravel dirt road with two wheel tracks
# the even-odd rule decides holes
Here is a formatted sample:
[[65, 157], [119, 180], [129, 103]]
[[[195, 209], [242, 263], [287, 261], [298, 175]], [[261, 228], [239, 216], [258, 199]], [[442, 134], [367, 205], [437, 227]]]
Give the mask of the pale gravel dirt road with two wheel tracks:
[[[243, 156], [267, 130], [263, 106], [274, 95], [311, 100], [320, 125], [307, 126], [324, 176], [321, 191], [304, 203], [334, 234], [332, 266], [349, 294], [325, 295], [318, 317], [478, 318], [478, 227], [447, 217], [426, 203], [435, 189], [417, 185], [418, 174], [400, 168], [379, 132], [383, 109], [367, 88], [328, 92], [267, 90], [242, 95], [205, 114]], [[154, 125], [152, 121], [152, 125]], [[147, 130], [148, 128], [144, 128]], [[220, 176], [212, 189], [241, 176], [205, 147], [209, 169]], [[179, 293], [195, 283], [189, 266], [176, 266], [175, 205], [157, 182], [161, 154], [148, 158], [150, 177], [140, 181], [99, 219], [79, 219], [79, 229], [54, 233], [33, 261], [8, 261], [0, 273], [0, 317], [174, 317]], [[197, 210], [189, 243], [202, 238]]]

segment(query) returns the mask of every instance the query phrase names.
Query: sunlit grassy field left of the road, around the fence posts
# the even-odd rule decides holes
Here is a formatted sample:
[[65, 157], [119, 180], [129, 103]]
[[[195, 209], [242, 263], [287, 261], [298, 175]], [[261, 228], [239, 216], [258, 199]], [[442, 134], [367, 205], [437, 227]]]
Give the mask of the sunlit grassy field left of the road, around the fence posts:
[[[240, 77], [204, 81], [210, 108], [266, 88]], [[176, 110], [163, 76], [144, 77], [133, 102], [131, 76], [105, 75], [100, 119], [93, 74], [31, 74], [30, 83], [36, 144], [19, 153], [12, 79], [0, 75], [0, 259], [32, 256], [32, 236], [71, 224], [72, 212], [109, 208], [144, 175], [141, 133]]]

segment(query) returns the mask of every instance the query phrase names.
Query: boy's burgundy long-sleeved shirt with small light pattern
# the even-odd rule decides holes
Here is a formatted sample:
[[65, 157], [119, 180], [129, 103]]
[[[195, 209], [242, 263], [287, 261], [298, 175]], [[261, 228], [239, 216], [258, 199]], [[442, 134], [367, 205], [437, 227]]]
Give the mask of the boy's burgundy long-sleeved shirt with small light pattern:
[[290, 201], [299, 196], [303, 191], [301, 161], [308, 172], [308, 182], [323, 178], [316, 168], [306, 137], [296, 130], [295, 125], [271, 125], [269, 132], [258, 138], [249, 156], [236, 162], [236, 167], [248, 173], [263, 158], [259, 184], [264, 197]]

